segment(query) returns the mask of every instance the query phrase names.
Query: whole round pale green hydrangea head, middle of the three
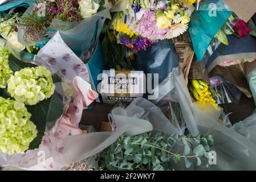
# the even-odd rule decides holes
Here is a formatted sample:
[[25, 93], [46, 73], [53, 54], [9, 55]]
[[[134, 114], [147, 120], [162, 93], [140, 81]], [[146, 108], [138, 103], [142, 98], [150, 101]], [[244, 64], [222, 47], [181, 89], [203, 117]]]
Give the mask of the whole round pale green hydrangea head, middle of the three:
[[8, 81], [8, 92], [15, 100], [26, 105], [36, 105], [54, 94], [51, 73], [45, 67], [23, 68]]

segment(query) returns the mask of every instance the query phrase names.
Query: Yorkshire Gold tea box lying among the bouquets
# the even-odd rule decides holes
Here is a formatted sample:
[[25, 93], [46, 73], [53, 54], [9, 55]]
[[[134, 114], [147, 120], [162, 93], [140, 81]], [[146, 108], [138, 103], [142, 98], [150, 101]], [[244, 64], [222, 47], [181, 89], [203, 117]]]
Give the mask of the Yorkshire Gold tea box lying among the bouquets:
[[104, 70], [100, 94], [104, 103], [130, 102], [144, 93], [143, 71]]

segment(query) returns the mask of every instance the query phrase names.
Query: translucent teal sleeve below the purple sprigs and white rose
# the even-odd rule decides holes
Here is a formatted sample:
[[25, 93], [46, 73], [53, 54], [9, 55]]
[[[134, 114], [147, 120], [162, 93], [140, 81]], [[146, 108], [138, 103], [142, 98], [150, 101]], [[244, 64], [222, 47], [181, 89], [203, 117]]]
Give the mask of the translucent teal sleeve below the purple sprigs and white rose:
[[76, 55], [81, 56], [90, 53], [87, 57], [91, 58], [94, 51], [90, 52], [90, 49], [95, 48], [97, 45], [105, 18], [111, 19], [108, 9], [99, 11], [97, 14], [80, 22], [63, 22], [54, 19], [52, 27], [59, 30], [64, 42]]

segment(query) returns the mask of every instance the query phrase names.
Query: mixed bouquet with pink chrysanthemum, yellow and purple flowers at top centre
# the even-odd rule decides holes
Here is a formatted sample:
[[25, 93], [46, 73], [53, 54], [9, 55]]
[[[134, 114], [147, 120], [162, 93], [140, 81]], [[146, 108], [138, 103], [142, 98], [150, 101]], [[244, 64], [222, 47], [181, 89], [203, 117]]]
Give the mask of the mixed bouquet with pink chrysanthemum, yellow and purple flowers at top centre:
[[193, 10], [192, 4], [182, 0], [128, 1], [127, 9], [117, 13], [112, 23], [117, 43], [138, 51], [175, 38], [188, 29]]

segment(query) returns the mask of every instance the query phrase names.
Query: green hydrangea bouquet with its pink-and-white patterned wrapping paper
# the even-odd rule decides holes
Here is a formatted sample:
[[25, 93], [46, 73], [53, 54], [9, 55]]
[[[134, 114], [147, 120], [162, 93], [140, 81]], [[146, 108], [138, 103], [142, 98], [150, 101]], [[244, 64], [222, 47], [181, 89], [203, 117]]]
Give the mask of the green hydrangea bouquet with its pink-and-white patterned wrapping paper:
[[64, 163], [63, 140], [82, 134], [82, 111], [97, 97], [85, 81], [86, 66], [58, 32], [38, 56], [25, 51], [15, 56], [0, 47], [0, 166], [34, 166], [39, 151]]

